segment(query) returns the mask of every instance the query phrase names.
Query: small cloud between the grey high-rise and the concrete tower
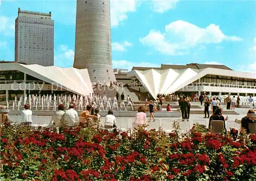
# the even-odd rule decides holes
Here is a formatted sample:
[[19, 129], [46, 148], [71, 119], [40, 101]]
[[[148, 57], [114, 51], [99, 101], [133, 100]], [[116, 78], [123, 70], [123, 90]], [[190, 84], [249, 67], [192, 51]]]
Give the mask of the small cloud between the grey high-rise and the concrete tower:
[[66, 44], [60, 44], [54, 56], [54, 65], [60, 67], [73, 66], [75, 52]]

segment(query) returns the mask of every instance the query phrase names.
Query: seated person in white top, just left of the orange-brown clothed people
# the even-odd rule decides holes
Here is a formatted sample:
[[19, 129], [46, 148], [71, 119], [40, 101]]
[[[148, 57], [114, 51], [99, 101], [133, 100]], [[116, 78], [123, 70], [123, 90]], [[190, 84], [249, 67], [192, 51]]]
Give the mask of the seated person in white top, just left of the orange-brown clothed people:
[[70, 104], [69, 109], [66, 110], [63, 118], [63, 126], [72, 127], [77, 125], [78, 114], [74, 109], [74, 105]]

